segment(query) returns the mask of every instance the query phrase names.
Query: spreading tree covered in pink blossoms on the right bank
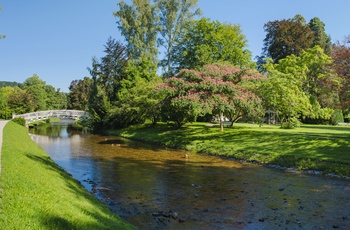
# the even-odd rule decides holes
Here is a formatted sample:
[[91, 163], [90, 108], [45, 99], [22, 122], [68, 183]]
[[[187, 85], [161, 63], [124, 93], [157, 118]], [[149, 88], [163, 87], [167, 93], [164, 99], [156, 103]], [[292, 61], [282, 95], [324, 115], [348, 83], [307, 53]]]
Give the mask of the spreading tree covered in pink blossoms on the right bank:
[[227, 63], [205, 65], [200, 70], [182, 69], [159, 87], [166, 92], [162, 113], [178, 126], [199, 115], [212, 114], [219, 118], [223, 131], [224, 117], [232, 125], [242, 116], [261, 116], [261, 100], [253, 93], [261, 79], [263, 76], [255, 71]]

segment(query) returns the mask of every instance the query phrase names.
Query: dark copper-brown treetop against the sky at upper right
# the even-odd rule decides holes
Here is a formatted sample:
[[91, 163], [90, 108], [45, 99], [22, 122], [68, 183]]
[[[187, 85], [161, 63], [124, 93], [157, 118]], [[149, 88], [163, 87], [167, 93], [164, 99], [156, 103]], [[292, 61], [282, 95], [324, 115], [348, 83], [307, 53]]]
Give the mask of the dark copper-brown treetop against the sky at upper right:
[[289, 55], [298, 56], [314, 43], [315, 35], [301, 15], [288, 20], [270, 21], [264, 25], [264, 30], [266, 37], [262, 56], [259, 57], [260, 65], [265, 58], [271, 58], [273, 63], [278, 63]]

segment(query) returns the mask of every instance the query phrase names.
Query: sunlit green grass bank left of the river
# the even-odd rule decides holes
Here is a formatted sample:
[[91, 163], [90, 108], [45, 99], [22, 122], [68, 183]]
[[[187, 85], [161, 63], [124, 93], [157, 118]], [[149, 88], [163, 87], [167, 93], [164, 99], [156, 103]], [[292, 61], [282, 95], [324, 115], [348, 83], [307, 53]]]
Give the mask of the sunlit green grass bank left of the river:
[[1, 229], [132, 229], [9, 122], [3, 133]]

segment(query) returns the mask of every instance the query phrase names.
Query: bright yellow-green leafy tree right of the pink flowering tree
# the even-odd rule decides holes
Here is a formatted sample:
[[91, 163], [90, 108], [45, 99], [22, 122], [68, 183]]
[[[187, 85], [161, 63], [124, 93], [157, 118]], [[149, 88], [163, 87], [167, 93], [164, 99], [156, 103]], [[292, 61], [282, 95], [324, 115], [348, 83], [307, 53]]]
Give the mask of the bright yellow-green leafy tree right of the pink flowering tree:
[[331, 68], [332, 60], [316, 46], [290, 55], [264, 68], [268, 81], [260, 87], [266, 108], [279, 113], [283, 121], [292, 117], [304, 122], [329, 120], [337, 108], [341, 79]]

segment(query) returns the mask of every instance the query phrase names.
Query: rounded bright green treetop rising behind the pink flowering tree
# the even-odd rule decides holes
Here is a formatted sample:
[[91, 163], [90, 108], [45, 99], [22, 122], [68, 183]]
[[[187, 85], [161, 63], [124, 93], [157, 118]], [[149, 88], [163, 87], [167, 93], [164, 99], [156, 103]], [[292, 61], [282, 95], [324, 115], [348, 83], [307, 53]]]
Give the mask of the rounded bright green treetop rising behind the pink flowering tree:
[[211, 22], [202, 18], [189, 23], [174, 50], [177, 69], [196, 69], [215, 62], [252, 67], [247, 39], [239, 25]]

